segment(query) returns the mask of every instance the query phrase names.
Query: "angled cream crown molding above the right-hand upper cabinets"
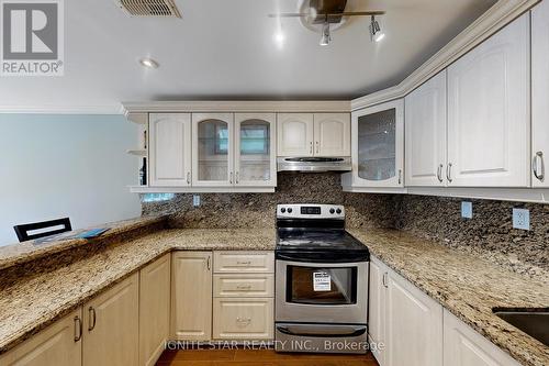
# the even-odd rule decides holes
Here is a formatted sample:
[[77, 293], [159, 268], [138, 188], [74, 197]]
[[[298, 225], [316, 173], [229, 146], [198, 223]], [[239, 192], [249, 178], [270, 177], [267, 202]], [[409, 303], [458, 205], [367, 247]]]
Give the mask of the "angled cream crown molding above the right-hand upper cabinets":
[[404, 98], [541, 0], [500, 0], [399, 85], [351, 100], [351, 110]]

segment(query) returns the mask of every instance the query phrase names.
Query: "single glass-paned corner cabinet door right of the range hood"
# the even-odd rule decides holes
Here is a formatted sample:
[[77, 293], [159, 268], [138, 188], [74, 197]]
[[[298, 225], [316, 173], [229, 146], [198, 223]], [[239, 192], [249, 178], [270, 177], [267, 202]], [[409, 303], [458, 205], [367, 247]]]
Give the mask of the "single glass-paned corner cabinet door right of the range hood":
[[352, 185], [403, 187], [404, 101], [352, 112]]

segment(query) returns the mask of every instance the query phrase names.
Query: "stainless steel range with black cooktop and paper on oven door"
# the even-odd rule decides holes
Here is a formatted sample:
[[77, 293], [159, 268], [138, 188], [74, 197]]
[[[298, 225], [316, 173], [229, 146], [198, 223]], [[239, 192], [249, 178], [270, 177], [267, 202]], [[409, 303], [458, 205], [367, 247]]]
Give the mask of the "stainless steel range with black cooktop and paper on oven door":
[[276, 350], [366, 353], [369, 251], [337, 204], [277, 207]]

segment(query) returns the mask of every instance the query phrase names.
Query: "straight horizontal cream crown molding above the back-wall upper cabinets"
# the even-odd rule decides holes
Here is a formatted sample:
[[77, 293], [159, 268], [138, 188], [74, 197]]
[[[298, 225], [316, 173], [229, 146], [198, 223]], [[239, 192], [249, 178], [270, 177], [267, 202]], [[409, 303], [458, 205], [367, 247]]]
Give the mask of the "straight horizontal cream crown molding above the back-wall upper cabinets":
[[350, 112], [349, 100], [197, 100], [122, 102], [125, 113], [143, 112]]

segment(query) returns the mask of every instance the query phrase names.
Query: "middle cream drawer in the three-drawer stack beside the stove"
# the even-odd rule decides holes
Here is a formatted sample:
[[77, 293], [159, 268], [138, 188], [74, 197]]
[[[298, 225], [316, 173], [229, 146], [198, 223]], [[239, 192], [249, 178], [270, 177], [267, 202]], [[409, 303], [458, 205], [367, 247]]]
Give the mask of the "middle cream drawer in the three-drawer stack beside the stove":
[[213, 296], [229, 297], [260, 297], [268, 298], [274, 295], [274, 275], [272, 274], [226, 274], [213, 276]]

